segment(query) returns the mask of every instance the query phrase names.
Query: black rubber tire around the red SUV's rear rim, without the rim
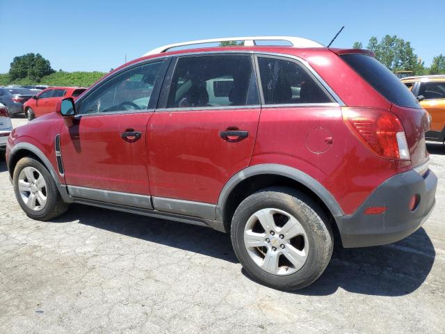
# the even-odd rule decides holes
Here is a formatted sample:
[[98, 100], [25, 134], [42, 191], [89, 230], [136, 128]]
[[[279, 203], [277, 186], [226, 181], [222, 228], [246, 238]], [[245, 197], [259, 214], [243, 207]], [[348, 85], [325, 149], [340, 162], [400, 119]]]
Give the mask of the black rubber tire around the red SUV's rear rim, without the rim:
[[[289, 275], [275, 275], [259, 267], [244, 244], [248, 219], [261, 209], [280, 209], [297, 218], [307, 234], [309, 250], [302, 267]], [[253, 193], [238, 206], [232, 219], [232, 245], [245, 271], [260, 283], [282, 290], [307, 287], [321, 276], [330, 262], [334, 239], [329, 220], [316, 202], [300, 191], [272, 187]]]

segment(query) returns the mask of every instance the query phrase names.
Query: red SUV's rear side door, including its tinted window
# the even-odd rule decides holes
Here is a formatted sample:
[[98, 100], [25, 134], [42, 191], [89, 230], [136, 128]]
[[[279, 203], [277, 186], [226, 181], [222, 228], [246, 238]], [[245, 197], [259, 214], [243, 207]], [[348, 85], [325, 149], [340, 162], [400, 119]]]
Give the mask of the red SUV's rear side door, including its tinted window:
[[252, 56], [172, 60], [158, 107], [147, 134], [155, 209], [214, 218], [221, 189], [252, 157], [260, 113]]

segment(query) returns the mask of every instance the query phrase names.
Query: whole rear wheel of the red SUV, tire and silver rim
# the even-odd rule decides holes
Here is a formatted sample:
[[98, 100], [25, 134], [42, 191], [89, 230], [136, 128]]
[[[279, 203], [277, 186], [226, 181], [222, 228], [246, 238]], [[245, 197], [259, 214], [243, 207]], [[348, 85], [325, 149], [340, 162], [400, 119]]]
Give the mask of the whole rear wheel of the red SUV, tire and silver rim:
[[274, 187], [253, 193], [232, 219], [236, 257], [250, 276], [277, 289], [300, 289], [327, 267], [334, 246], [327, 216], [305, 193]]

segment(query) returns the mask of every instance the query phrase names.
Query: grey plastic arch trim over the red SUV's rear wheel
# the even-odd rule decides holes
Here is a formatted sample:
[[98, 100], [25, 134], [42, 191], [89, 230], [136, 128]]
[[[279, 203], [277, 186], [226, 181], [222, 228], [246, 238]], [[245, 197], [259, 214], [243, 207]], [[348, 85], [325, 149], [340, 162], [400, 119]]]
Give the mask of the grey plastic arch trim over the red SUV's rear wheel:
[[216, 205], [216, 220], [223, 221], [225, 204], [229, 199], [230, 193], [232, 193], [232, 191], [238, 184], [240, 184], [240, 182], [243, 182], [243, 180], [246, 180], [249, 177], [263, 174], [273, 174], [289, 177], [289, 179], [292, 179], [304, 186], [307, 186], [308, 189], [313, 191], [316, 196], [318, 196], [318, 198], [323, 201], [327, 209], [330, 210], [332, 216], [344, 216], [344, 212], [337, 200], [335, 200], [334, 196], [332, 196], [330, 191], [328, 191], [320, 182], [315, 180], [313, 177], [307, 175], [301, 170], [285, 165], [259, 164], [239, 171], [233, 177], [231, 177], [229, 181], [227, 181], [227, 183], [223, 187], [223, 190], [220, 192], [218, 204]]

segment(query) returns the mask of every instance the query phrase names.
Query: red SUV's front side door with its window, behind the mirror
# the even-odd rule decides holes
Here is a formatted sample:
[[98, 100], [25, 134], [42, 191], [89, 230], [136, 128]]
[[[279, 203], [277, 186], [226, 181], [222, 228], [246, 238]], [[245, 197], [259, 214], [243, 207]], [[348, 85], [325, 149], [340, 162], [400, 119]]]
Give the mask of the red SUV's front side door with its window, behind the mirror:
[[[76, 102], [60, 132], [65, 181], [73, 196], [151, 207], [145, 139], [165, 60], [133, 66]], [[118, 193], [115, 193], [118, 192]]]

